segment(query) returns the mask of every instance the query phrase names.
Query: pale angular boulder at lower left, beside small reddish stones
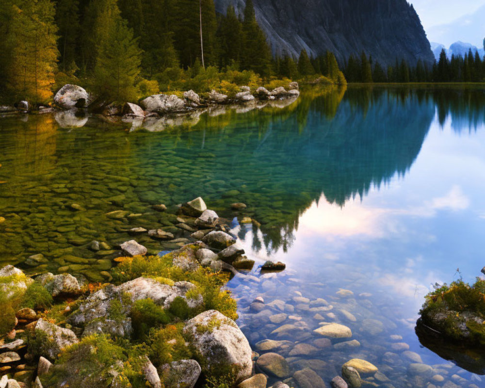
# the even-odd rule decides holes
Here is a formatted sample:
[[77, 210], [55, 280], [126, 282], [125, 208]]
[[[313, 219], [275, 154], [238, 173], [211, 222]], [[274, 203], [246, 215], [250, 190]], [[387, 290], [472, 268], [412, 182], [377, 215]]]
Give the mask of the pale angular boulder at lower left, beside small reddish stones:
[[66, 347], [79, 342], [72, 330], [49, 323], [42, 318], [35, 324], [35, 336], [39, 335], [45, 337], [38, 349], [39, 354], [50, 359], [57, 358]]

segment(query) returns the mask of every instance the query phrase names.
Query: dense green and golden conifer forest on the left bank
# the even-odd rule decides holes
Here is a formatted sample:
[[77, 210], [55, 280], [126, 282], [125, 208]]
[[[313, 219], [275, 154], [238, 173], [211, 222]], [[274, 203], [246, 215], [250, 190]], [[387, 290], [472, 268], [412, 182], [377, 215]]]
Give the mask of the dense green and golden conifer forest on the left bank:
[[65, 83], [135, 100], [167, 79], [228, 69], [343, 80], [331, 53], [273, 57], [252, 0], [242, 15], [217, 14], [214, 0], [3, 0], [0, 32], [2, 101], [48, 102]]

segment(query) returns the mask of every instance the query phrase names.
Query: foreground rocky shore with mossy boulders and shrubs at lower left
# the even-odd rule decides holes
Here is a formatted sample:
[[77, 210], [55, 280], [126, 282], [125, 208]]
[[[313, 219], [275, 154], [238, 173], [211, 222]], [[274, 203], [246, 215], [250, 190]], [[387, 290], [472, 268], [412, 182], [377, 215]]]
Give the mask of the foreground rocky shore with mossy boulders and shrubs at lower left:
[[[245, 205], [231, 207], [241, 210]], [[157, 210], [166, 211], [166, 207], [157, 205]], [[265, 387], [266, 377], [255, 373], [254, 354], [233, 320], [236, 305], [223, 289], [227, 277], [221, 272], [251, 269], [254, 261], [244, 256], [236, 238], [226, 233], [226, 226], [219, 224], [218, 215], [207, 209], [202, 198], [179, 205], [178, 213], [193, 220], [192, 242], [154, 257], [146, 257], [147, 249], [135, 240], [120, 244], [114, 259], [118, 266], [109, 274], [114, 283], [88, 283], [84, 276], [67, 274], [63, 268], [59, 275], [44, 273], [33, 278], [11, 265], [0, 269], [1, 304], [11, 314], [1, 320], [6, 334], [0, 339], [0, 387], [60, 387], [66, 381], [74, 387], [79, 370], [71, 363], [86, 349], [106, 341], [114, 346], [122, 339], [125, 346], [146, 348], [152, 341], [147, 332], [156, 336], [157, 329], [172, 327], [167, 325], [177, 329], [168, 337], [163, 332], [163, 346], [168, 347], [164, 360], [174, 361], [152, 363], [147, 354], [135, 352], [128, 361], [103, 364], [101, 369], [109, 373], [96, 384], [89, 376], [83, 384], [130, 387], [124, 375], [128, 362], [135, 364], [133, 368], [151, 387], [179, 387], [182, 382], [184, 387], [194, 387], [197, 381], [200, 386], [215, 380], [230, 382], [230, 386]], [[142, 229], [130, 232], [157, 240], [174, 237], [163, 229]], [[264, 266], [267, 271], [284, 269], [282, 263]], [[210, 307], [220, 307], [222, 312]], [[163, 319], [158, 320], [160, 315]], [[177, 343], [179, 339], [182, 344]], [[159, 349], [161, 345], [150, 346]], [[194, 359], [178, 359], [179, 352]], [[95, 360], [96, 364], [104, 362]]]

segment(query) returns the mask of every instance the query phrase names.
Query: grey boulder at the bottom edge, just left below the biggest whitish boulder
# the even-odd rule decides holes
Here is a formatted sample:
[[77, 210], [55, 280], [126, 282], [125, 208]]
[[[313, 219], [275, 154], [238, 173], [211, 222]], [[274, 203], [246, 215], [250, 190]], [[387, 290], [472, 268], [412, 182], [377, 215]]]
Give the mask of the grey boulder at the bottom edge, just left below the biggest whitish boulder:
[[162, 365], [160, 374], [165, 388], [194, 388], [200, 372], [197, 361], [180, 360]]

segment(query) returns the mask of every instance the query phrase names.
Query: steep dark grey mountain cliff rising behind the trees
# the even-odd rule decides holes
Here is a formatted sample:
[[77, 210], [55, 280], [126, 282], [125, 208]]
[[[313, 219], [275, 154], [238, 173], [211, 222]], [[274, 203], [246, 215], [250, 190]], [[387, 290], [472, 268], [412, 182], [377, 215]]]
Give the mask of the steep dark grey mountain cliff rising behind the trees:
[[[405, 59], [432, 63], [419, 16], [406, 0], [253, 0], [256, 17], [275, 54], [316, 56], [332, 51], [340, 63], [364, 50], [383, 65]], [[245, 0], [215, 0], [218, 12]]]

